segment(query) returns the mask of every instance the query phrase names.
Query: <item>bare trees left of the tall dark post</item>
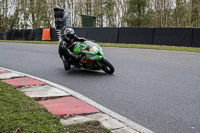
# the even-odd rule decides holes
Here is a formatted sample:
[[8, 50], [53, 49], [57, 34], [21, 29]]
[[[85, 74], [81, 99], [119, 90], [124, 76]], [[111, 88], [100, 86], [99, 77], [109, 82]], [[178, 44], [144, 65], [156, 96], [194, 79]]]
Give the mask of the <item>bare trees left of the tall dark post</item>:
[[0, 31], [53, 27], [56, 0], [0, 0]]

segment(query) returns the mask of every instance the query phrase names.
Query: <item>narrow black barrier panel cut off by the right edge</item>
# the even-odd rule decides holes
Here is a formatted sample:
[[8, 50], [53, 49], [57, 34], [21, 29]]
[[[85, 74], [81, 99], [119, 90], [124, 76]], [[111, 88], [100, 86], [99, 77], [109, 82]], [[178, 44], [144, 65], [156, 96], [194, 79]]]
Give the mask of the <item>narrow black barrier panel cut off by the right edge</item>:
[[200, 28], [193, 29], [192, 47], [200, 47]]

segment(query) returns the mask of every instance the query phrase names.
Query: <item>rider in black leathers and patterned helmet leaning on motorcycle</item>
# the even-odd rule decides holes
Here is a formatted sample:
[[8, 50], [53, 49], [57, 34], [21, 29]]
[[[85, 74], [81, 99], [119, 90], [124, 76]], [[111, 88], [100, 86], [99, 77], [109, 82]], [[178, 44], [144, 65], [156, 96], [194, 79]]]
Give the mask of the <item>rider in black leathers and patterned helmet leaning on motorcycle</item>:
[[75, 55], [73, 53], [74, 42], [84, 42], [85, 38], [78, 37], [72, 28], [65, 28], [64, 34], [61, 36], [61, 40], [59, 43], [59, 55], [63, 61], [65, 70], [69, 70], [71, 64], [69, 62], [70, 57], [75, 60], [76, 66], [80, 67], [80, 60], [82, 59], [81, 55]]

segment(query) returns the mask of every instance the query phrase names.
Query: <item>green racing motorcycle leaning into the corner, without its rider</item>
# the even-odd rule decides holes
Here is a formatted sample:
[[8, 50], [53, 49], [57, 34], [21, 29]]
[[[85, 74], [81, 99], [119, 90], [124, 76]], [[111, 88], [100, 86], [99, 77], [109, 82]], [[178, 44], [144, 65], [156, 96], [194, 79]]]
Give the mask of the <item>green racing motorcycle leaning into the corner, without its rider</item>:
[[97, 43], [91, 41], [75, 43], [73, 53], [83, 57], [78, 67], [73, 61], [70, 62], [74, 67], [87, 70], [103, 70], [108, 74], [115, 71], [113, 65], [104, 58], [102, 48]]

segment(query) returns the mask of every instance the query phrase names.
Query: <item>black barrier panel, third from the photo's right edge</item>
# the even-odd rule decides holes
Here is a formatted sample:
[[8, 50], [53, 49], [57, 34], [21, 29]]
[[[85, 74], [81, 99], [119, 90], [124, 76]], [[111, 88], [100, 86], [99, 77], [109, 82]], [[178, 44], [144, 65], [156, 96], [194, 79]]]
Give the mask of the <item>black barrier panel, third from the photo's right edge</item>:
[[154, 28], [120, 28], [118, 43], [153, 44], [153, 33]]

